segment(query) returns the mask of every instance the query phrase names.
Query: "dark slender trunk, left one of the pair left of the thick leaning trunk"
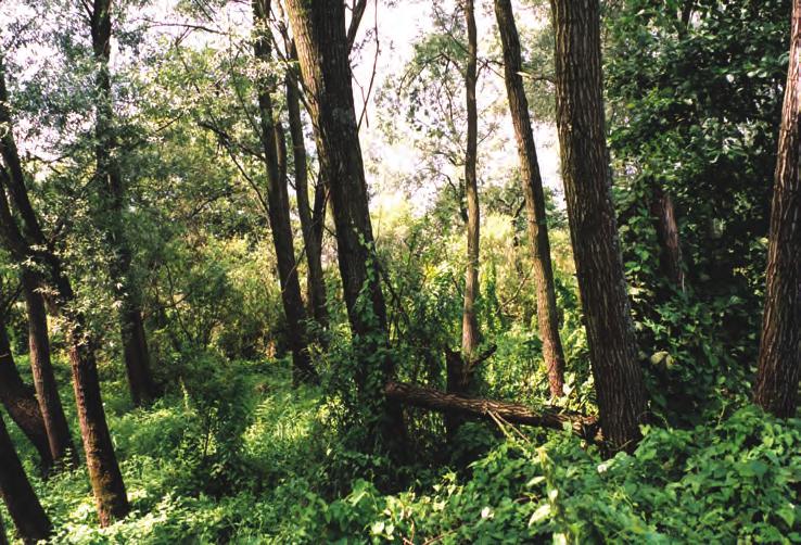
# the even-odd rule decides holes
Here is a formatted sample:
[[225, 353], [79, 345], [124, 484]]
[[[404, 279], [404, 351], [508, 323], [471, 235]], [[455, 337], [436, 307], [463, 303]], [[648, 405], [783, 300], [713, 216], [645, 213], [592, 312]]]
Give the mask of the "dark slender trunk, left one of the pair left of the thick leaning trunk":
[[[269, 0], [253, 1], [253, 20], [257, 27], [254, 41], [256, 60], [270, 62], [270, 37], [267, 17], [270, 13]], [[306, 335], [306, 313], [303, 308], [301, 283], [297, 279], [297, 265], [290, 219], [289, 194], [287, 191], [285, 143], [283, 128], [276, 123], [272, 114], [270, 91], [275, 87], [268, 77], [260, 77], [258, 87], [259, 138], [267, 167], [267, 201], [272, 243], [278, 261], [278, 276], [281, 283], [281, 302], [287, 317], [287, 329], [292, 351], [293, 377], [300, 381], [314, 380], [316, 372], [312, 366]]]

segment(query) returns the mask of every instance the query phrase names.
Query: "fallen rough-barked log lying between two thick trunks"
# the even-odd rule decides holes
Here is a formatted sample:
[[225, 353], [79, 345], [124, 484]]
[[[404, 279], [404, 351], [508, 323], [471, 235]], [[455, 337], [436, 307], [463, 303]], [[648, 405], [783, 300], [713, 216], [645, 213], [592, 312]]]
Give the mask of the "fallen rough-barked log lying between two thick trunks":
[[600, 439], [597, 417], [558, 407], [543, 407], [534, 410], [519, 403], [468, 397], [404, 382], [387, 382], [384, 386], [384, 394], [389, 400], [406, 405], [443, 413], [459, 413], [473, 418], [501, 420], [554, 430], [562, 430], [564, 424], [569, 423], [573, 433], [582, 439], [593, 442]]

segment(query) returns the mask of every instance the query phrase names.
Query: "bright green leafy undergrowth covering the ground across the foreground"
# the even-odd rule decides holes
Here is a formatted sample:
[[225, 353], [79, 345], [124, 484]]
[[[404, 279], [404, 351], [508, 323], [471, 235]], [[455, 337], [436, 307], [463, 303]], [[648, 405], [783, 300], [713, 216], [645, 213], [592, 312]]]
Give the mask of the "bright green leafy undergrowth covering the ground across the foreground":
[[[335, 404], [293, 389], [287, 366], [206, 357], [192, 369], [132, 411], [109, 377], [134, 509], [100, 529], [82, 469], [36, 479], [53, 543], [801, 542], [798, 419], [724, 407], [707, 426], [647, 428], [632, 456], [612, 459], [567, 431], [471, 423], [471, 458], [421, 452], [393, 472], [344, 446]], [[377, 479], [386, 474], [400, 490]]]

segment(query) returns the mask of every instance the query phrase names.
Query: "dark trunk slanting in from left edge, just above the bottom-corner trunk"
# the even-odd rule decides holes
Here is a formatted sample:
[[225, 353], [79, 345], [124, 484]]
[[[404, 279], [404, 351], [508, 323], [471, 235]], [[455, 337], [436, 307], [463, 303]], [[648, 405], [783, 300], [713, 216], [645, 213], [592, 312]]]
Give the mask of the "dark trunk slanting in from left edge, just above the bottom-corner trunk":
[[2, 316], [0, 316], [0, 402], [11, 419], [36, 447], [42, 471], [47, 474], [53, 466], [53, 456], [50, 454], [44, 420], [34, 389], [23, 382], [16, 369]]

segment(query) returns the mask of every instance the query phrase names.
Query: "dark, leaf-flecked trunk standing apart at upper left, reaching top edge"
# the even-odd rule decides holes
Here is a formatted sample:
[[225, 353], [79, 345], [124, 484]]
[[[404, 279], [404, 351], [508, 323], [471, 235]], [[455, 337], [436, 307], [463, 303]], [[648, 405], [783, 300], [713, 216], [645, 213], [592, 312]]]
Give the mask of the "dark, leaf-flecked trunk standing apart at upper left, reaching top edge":
[[91, 17], [92, 50], [97, 69], [94, 136], [97, 145], [96, 182], [102, 195], [101, 215], [105, 238], [112, 249], [110, 272], [114, 296], [120, 302], [119, 327], [123, 357], [130, 394], [136, 405], [155, 397], [155, 384], [150, 371], [150, 353], [142, 322], [141, 295], [131, 278], [131, 251], [125, 235], [123, 174], [116, 159], [114, 109], [109, 59], [111, 54], [112, 0], [94, 0]]

